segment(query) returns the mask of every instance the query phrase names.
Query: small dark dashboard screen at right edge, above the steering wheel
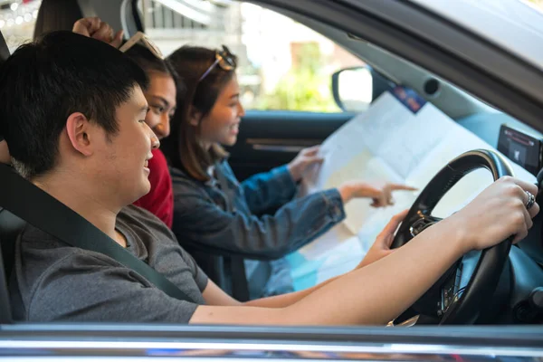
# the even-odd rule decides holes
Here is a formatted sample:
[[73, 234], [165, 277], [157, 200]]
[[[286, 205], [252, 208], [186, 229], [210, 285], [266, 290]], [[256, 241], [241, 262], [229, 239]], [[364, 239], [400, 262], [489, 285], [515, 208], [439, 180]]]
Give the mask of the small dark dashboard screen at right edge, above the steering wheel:
[[498, 150], [511, 161], [537, 175], [541, 168], [541, 140], [501, 125]]

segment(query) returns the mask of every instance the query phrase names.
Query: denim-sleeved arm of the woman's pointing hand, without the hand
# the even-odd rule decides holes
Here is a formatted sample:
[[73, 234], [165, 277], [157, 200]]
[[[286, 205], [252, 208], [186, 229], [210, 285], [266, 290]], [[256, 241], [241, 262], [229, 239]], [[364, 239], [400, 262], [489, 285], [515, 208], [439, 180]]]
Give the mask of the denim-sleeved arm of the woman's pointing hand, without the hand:
[[[176, 186], [175, 186], [176, 187]], [[225, 212], [203, 195], [178, 194], [174, 212], [177, 240], [253, 259], [277, 259], [325, 233], [345, 217], [338, 190], [308, 195], [274, 215]]]

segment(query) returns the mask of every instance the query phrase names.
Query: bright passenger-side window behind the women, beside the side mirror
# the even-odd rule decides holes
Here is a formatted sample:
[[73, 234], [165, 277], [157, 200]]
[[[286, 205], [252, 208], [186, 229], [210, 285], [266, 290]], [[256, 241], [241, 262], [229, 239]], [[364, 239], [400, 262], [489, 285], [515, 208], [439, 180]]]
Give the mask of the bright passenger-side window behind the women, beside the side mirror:
[[[195, 2], [169, 8], [140, 2], [146, 33], [165, 55], [182, 44], [227, 45], [239, 58], [247, 110], [338, 112], [331, 75], [359, 59], [288, 17], [238, 2]], [[370, 79], [371, 81], [371, 79]]]

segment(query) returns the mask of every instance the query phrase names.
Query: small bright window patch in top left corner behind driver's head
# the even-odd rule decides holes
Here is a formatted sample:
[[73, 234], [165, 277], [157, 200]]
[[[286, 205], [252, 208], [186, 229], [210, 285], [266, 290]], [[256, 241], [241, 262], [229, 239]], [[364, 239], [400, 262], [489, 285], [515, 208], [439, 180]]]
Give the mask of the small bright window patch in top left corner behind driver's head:
[[3, 1], [0, 4], [0, 30], [10, 52], [32, 40], [41, 0]]

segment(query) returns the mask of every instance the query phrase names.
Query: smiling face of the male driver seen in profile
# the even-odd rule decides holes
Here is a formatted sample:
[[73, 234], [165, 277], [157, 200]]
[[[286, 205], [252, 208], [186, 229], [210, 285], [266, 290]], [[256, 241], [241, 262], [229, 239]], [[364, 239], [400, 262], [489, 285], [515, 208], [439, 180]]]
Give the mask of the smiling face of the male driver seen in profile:
[[110, 198], [106, 203], [123, 207], [150, 190], [148, 159], [159, 143], [145, 122], [147, 111], [147, 100], [136, 86], [129, 100], [117, 108], [119, 133], [108, 138], [104, 131], [103, 141], [95, 148], [92, 167], [103, 190], [100, 194]]

